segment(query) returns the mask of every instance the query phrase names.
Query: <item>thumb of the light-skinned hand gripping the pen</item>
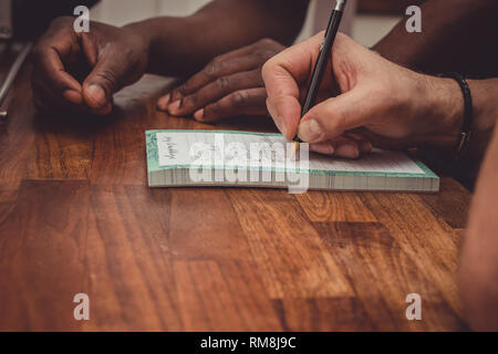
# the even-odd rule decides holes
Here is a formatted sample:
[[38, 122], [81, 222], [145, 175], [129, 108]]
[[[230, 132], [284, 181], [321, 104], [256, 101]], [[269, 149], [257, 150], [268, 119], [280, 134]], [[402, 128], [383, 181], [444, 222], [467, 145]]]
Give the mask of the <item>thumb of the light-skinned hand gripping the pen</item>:
[[367, 91], [357, 87], [311, 108], [302, 118], [298, 135], [303, 142], [320, 143], [361, 127], [373, 116]]

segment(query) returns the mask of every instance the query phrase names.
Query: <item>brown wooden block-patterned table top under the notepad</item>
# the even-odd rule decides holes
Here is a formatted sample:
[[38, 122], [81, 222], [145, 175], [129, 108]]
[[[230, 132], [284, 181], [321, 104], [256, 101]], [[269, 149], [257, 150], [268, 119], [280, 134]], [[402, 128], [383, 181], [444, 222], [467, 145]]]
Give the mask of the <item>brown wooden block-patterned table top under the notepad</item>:
[[[1, 76], [0, 76], [1, 77]], [[273, 131], [157, 113], [146, 76], [112, 117], [41, 117], [29, 70], [0, 126], [0, 330], [465, 330], [458, 251], [470, 194], [149, 189], [146, 129]], [[75, 321], [73, 296], [90, 296]], [[423, 320], [407, 321], [418, 293]]]

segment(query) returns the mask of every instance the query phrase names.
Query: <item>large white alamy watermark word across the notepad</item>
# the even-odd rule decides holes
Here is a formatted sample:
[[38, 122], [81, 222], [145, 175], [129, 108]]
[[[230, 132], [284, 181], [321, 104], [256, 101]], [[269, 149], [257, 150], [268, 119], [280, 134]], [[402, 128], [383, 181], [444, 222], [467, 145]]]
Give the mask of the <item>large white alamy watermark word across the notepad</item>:
[[[174, 146], [163, 137], [165, 146]], [[293, 143], [229, 142], [224, 134], [214, 134], [214, 143], [196, 142], [189, 148], [189, 178], [196, 184], [232, 184], [286, 186], [289, 192], [301, 194], [310, 186], [309, 145]]]

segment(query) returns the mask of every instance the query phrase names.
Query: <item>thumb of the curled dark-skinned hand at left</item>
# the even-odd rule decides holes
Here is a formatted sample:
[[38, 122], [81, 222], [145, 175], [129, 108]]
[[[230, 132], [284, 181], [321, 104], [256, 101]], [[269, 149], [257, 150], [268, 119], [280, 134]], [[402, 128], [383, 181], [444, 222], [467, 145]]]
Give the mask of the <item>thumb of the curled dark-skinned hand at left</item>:
[[122, 87], [126, 74], [123, 63], [112, 55], [98, 60], [83, 83], [83, 97], [92, 110], [112, 106], [113, 95]]

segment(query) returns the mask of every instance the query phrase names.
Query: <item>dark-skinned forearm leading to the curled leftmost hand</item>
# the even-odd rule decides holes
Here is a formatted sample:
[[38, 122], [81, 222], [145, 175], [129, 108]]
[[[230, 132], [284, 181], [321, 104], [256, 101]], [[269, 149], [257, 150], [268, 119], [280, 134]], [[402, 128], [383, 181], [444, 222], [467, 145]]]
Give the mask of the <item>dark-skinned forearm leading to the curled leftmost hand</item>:
[[155, 18], [128, 25], [149, 43], [148, 72], [180, 76], [214, 56], [271, 38], [290, 44], [308, 0], [217, 0], [186, 18]]

